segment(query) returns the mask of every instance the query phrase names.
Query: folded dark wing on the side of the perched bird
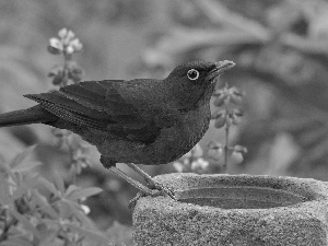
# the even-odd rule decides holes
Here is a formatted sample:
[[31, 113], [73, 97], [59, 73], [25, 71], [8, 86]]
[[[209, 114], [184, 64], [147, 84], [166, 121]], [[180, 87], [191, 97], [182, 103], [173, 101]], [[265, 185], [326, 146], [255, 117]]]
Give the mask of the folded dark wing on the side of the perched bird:
[[119, 138], [154, 141], [160, 129], [141, 118], [117, 90], [124, 81], [86, 81], [61, 87], [59, 92], [25, 95], [59, 118], [79, 126], [108, 131]]

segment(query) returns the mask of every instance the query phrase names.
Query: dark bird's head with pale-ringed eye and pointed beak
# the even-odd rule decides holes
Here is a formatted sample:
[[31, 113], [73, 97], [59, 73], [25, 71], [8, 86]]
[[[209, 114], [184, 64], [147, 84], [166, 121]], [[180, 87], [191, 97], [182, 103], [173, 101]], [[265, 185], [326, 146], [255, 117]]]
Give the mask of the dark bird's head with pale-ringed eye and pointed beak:
[[204, 97], [209, 101], [216, 78], [234, 66], [235, 62], [229, 60], [190, 61], [176, 67], [164, 81], [179, 98], [179, 104], [187, 106]]

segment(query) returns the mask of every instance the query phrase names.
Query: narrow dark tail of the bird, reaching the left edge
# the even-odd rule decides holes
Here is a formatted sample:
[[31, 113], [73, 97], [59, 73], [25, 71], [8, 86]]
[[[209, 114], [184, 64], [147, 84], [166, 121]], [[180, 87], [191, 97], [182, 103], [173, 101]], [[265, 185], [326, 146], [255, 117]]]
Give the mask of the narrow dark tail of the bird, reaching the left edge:
[[9, 112], [0, 115], [0, 128], [28, 124], [39, 124], [56, 120], [57, 117], [42, 106], [36, 105], [27, 109]]

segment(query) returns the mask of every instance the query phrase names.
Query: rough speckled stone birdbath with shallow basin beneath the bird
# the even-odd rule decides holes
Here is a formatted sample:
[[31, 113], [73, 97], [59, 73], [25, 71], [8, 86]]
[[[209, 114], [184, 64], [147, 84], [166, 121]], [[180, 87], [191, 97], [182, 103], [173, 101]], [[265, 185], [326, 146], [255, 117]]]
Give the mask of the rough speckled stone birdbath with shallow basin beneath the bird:
[[327, 245], [327, 183], [197, 174], [155, 179], [177, 190], [179, 200], [192, 203], [167, 197], [138, 200], [136, 245]]

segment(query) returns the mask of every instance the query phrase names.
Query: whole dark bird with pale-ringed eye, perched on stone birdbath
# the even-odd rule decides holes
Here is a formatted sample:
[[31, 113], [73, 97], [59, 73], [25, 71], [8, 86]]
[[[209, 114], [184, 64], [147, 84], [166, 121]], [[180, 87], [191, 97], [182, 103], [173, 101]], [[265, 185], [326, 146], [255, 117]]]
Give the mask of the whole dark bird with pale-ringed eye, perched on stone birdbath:
[[[173, 197], [134, 164], [166, 164], [190, 151], [209, 128], [216, 78], [234, 66], [227, 60], [190, 61], [164, 80], [85, 81], [24, 95], [38, 105], [0, 115], [0, 127], [45, 124], [68, 129], [96, 145], [102, 164], [138, 189], [152, 195], [160, 189]], [[151, 189], [116, 163], [127, 163]]]

